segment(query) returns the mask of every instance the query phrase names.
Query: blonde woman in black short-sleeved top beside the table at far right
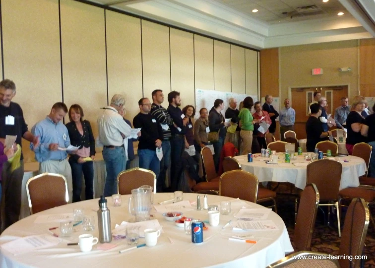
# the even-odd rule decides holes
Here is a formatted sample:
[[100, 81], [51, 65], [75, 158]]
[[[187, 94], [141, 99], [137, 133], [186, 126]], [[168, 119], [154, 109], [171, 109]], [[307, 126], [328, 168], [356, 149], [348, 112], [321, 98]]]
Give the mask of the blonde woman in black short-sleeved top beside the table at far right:
[[354, 97], [352, 111], [346, 118], [348, 134], [346, 136], [345, 147], [350, 155], [353, 154], [353, 147], [355, 144], [366, 141], [366, 138], [361, 134], [362, 124], [365, 123], [365, 118], [361, 115], [364, 109], [365, 98], [362, 96]]

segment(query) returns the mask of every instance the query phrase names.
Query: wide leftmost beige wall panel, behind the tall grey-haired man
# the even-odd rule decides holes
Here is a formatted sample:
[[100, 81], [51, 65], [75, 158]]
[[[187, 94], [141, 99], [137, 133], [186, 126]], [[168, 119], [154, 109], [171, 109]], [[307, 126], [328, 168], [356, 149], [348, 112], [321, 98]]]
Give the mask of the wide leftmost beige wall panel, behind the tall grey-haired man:
[[[1, 8], [4, 74], [31, 130], [62, 100], [58, 0], [2, 1]], [[25, 162], [34, 160], [25, 140], [23, 153]]]

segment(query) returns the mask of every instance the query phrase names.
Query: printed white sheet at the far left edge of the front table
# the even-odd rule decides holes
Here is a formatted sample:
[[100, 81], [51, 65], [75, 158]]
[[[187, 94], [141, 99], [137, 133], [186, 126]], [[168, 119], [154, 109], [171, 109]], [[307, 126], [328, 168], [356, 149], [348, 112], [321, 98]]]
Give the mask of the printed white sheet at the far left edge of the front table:
[[33, 250], [53, 247], [59, 244], [61, 241], [61, 238], [49, 234], [32, 235], [2, 244], [1, 249], [10, 252], [13, 255], [18, 255], [28, 253]]

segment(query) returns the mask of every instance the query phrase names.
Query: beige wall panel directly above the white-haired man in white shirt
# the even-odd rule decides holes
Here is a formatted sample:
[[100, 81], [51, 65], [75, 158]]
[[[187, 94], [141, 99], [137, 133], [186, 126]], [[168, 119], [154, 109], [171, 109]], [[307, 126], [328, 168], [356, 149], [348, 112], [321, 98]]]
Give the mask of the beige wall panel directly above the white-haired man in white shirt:
[[140, 19], [106, 11], [108, 97], [125, 97], [125, 109], [130, 122], [139, 113], [142, 98], [142, 56]]

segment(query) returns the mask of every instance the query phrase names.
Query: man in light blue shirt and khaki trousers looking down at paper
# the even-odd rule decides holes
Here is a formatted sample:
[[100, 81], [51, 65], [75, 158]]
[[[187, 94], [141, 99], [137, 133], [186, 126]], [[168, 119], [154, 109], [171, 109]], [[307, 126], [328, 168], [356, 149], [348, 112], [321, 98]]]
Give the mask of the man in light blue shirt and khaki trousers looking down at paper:
[[32, 134], [40, 137], [40, 144], [35, 147], [31, 143], [30, 149], [34, 151], [35, 160], [39, 162], [39, 173], [57, 173], [66, 178], [69, 202], [71, 202], [73, 189], [71, 169], [66, 158], [66, 150], [62, 150], [70, 145], [68, 131], [61, 122], [67, 111], [66, 105], [62, 102], [52, 106], [50, 114], [31, 129]]

